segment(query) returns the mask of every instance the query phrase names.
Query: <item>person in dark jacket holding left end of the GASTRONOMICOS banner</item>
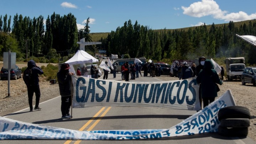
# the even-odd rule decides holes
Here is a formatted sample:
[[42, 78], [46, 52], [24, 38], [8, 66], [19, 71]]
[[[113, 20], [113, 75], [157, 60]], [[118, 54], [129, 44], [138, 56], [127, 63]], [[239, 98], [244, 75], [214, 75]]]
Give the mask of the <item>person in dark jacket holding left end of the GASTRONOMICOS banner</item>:
[[73, 85], [71, 75], [74, 73], [69, 72], [69, 64], [62, 63], [60, 66], [60, 70], [57, 73], [57, 79], [59, 84], [59, 91], [61, 96], [61, 112], [62, 112], [62, 119], [69, 119], [72, 116], [69, 114], [69, 110], [71, 107], [72, 102], [72, 95], [73, 95]]

